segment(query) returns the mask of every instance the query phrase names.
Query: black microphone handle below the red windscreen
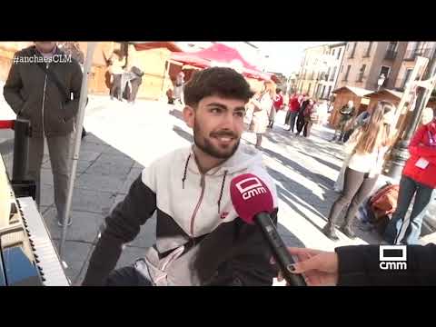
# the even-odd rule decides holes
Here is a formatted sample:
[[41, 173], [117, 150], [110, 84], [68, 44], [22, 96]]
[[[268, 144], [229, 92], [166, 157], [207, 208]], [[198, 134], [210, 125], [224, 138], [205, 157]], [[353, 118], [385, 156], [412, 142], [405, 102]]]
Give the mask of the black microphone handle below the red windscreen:
[[290, 286], [306, 286], [307, 284], [301, 274], [288, 271], [287, 267], [295, 262], [292, 259], [292, 255], [288, 252], [286, 245], [283, 243], [282, 237], [280, 237], [277, 232], [274, 223], [272, 223], [270, 214], [258, 213], [255, 215], [254, 221], [261, 227], [263, 236], [270, 245], [275, 262], [279, 264], [286, 282], [288, 282]]

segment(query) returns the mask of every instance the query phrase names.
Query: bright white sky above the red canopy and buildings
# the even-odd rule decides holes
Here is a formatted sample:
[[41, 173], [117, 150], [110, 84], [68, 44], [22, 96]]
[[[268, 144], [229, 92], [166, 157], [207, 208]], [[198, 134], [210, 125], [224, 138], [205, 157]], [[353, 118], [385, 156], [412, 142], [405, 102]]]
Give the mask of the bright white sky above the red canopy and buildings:
[[337, 42], [251, 42], [251, 44], [257, 45], [261, 51], [269, 55], [265, 60], [267, 71], [289, 75], [300, 70], [305, 48]]

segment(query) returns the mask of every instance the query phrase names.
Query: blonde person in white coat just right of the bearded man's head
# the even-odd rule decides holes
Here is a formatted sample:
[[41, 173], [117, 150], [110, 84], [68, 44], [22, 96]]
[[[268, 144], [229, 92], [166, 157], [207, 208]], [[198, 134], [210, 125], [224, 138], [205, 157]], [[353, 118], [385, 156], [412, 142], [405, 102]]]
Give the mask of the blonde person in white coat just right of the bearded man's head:
[[269, 124], [269, 115], [272, 110], [273, 99], [275, 97], [275, 84], [272, 81], [266, 81], [263, 84], [263, 90], [250, 101], [253, 104], [253, 118], [250, 124], [250, 132], [256, 134], [256, 148], [262, 145], [262, 135], [266, 132]]

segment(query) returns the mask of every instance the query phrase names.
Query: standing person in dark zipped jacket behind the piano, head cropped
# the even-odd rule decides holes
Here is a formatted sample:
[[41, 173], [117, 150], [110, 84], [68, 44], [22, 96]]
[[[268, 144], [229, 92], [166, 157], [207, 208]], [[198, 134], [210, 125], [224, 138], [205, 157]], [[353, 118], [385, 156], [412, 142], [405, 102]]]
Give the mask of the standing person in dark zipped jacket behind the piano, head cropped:
[[[74, 124], [79, 110], [83, 74], [79, 63], [67, 58], [55, 42], [35, 42], [14, 55], [3, 94], [17, 118], [30, 121], [28, 172], [41, 203], [41, 165], [45, 140], [53, 170], [54, 203], [62, 225], [68, 195]], [[71, 221], [69, 222], [71, 223]]]

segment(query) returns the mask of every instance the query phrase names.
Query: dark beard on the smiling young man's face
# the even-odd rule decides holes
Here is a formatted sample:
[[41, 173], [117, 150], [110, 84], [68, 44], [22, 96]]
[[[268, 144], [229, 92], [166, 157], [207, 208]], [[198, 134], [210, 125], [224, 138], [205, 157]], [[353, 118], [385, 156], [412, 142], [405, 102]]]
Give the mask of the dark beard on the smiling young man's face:
[[[237, 138], [235, 134], [232, 132], [222, 131], [218, 133], [212, 133], [217, 135], [229, 136], [233, 138]], [[213, 135], [211, 135], [212, 137]], [[236, 143], [233, 147], [228, 147], [227, 149], [221, 149], [218, 146], [214, 146], [210, 140], [202, 135], [202, 130], [200, 126], [197, 124], [197, 121], [193, 122], [193, 143], [203, 151], [204, 154], [209, 154], [217, 159], [228, 159], [230, 158], [236, 150], [238, 150], [238, 146], [241, 143], [241, 139], [237, 138]]]

